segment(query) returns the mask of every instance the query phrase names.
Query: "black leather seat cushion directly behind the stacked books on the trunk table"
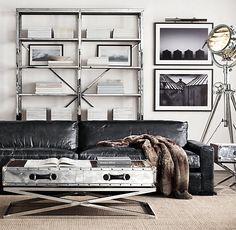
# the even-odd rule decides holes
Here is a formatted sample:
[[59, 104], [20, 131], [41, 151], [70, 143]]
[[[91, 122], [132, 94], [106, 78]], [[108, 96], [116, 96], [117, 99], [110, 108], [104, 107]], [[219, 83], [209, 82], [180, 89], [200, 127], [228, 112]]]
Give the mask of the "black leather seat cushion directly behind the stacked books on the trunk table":
[[132, 160], [142, 160], [145, 156], [140, 149], [131, 147], [93, 147], [80, 153], [80, 159], [96, 160], [96, 157], [123, 157], [128, 156]]

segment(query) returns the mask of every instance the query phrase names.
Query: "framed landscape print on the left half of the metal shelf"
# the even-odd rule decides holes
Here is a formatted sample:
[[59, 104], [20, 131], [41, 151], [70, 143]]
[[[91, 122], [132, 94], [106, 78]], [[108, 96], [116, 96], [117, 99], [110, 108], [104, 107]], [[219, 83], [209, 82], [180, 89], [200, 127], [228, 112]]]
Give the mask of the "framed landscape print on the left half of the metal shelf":
[[50, 57], [63, 56], [62, 44], [29, 45], [29, 65], [48, 65]]

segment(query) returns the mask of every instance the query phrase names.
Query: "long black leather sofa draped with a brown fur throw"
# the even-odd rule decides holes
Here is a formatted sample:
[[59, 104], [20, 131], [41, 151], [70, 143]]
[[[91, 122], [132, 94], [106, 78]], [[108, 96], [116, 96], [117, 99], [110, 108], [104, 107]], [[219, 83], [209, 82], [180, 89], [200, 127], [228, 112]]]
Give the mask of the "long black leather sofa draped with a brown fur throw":
[[[124, 156], [145, 159], [132, 147], [97, 147], [101, 140], [134, 134], [161, 135], [174, 139], [187, 152], [191, 194], [212, 195], [213, 149], [187, 139], [188, 124], [180, 121], [0, 121], [0, 166], [14, 159], [69, 157], [95, 159]], [[0, 186], [2, 192], [2, 184]]]

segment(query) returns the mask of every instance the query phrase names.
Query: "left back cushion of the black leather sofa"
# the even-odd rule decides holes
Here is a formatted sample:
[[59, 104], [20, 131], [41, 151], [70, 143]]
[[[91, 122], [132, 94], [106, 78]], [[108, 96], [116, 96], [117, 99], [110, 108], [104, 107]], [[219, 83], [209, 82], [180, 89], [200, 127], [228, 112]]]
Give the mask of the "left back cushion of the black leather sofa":
[[0, 148], [77, 149], [74, 121], [0, 121]]

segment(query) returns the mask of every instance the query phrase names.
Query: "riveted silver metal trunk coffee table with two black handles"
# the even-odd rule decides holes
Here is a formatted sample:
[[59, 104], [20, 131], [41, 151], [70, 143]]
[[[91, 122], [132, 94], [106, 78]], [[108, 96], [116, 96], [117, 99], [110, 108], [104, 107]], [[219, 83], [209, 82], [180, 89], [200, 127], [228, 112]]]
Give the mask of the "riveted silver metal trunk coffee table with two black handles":
[[4, 191], [31, 198], [11, 203], [4, 218], [155, 217], [148, 203], [127, 199], [156, 191], [156, 169], [147, 161], [132, 161], [130, 167], [98, 167], [91, 161], [86, 168], [25, 163], [11, 160], [3, 167]]

